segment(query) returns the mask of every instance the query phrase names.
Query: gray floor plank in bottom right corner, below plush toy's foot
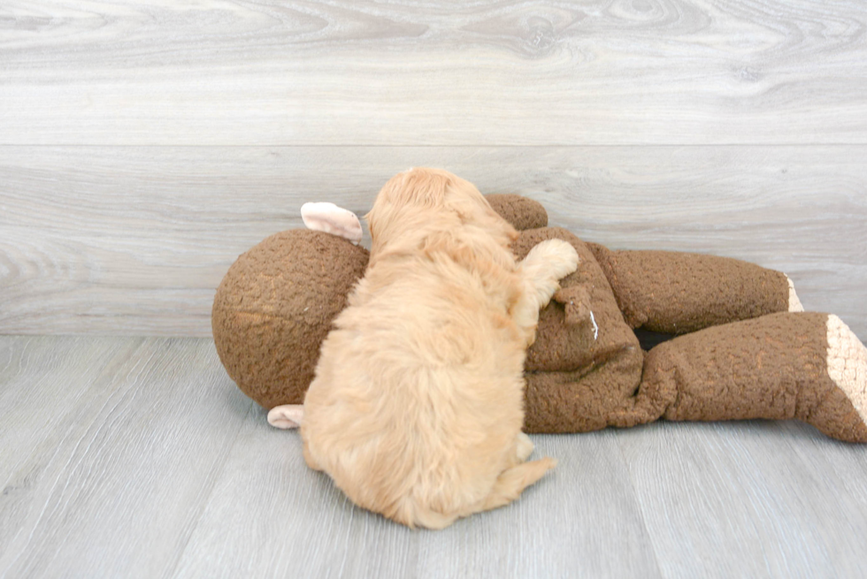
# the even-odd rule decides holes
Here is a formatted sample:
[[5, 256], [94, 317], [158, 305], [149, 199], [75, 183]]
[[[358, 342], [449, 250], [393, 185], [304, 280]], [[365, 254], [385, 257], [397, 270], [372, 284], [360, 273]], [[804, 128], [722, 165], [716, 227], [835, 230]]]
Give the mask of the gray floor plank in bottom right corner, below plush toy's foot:
[[862, 445], [802, 423], [659, 423], [619, 434], [664, 576], [862, 574]]

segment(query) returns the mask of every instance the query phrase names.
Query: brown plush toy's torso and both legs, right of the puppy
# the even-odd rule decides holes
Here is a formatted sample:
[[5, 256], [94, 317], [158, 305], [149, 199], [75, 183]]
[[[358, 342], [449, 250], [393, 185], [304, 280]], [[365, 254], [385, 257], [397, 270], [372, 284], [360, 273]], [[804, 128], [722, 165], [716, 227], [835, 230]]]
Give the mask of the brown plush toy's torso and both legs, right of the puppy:
[[[518, 255], [541, 231], [525, 232]], [[546, 312], [560, 319], [540, 321], [557, 331], [541, 328], [534, 348], [556, 356], [528, 353], [528, 432], [798, 418], [833, 438], [867, 442], [867, 348], [839, 317], [798, 313], [782, 273], [712, 255], [615, 252], [544, 231], [583, 248], [581, 270], [558, 297], [580, 296], [585, 313], [570, 320], [567, 302], [562, 313]], [[624, 326], [684, 335], [644, 354]], [[584, 357], [572, 355], [575, 345]]]

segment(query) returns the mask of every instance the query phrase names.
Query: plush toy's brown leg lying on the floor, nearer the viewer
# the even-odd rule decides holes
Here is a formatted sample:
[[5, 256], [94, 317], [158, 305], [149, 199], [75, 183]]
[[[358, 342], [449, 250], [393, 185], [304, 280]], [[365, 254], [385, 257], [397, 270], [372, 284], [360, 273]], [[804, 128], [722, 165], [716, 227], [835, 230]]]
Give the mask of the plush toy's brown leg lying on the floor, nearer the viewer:
[[867, 349], [837, 316], [779, 313], [653, 348], [613, 426], [667, 420], [797, 418], [867, 442]]

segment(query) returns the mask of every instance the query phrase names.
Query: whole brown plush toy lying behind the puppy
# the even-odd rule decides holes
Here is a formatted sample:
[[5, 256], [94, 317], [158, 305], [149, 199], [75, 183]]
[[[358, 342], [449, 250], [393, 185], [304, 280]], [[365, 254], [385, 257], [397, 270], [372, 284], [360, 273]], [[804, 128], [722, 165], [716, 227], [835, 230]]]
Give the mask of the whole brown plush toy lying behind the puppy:
[[[802, 312], [785, 275], [711, 255], [612, 251], [548, 227], [537, 202], [487, 200], [521, 232], [519, 259], [551, 238], [580, 257], [527, 353], [527, 432], [798, 418], [867, 442], [867, 348], [839, 317]], [[328, 232], [281, 232], [241, 255], [212, 311], [229, 376], [284, 428], [302, 419], [319, 345], [369, 256], [345, 239], [360, 239], [352, 214], [317, 207], [305, 223]], [[646, 352], [639, 329], [677, 337]]]

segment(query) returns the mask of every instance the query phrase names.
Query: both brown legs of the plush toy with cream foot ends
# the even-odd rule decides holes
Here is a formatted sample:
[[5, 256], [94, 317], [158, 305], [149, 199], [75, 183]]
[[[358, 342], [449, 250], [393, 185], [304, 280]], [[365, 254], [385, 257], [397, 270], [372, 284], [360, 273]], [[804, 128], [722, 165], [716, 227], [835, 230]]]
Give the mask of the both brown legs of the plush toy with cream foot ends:
[[694, 332], [650, 351], [633, 406], [612, 425], [797, 418], [867, 442], [867, 349], [837, 316], [794, 313], [803, 307], [785, 275], [713, 255], [589, 245], [627, 324]]

